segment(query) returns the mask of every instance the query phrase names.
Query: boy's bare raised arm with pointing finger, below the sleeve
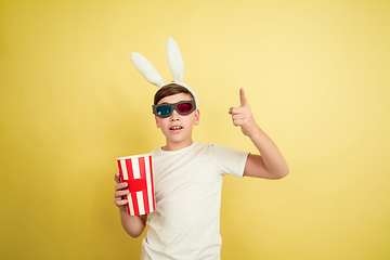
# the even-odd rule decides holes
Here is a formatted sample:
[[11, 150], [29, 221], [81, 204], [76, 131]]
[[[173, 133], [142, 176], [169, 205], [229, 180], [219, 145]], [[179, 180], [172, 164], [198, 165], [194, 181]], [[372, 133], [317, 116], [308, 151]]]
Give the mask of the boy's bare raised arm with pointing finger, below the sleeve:
[[239, 90], [239, 107], [231, 107], [233, 125], [240, 127], [260, 155], [249, 154], [244, 176], [265, 179], [281, 179], [288, 174], [288, 166], [274, 142], [257, 125], [250, 106], [246, 100], [244, 89]]

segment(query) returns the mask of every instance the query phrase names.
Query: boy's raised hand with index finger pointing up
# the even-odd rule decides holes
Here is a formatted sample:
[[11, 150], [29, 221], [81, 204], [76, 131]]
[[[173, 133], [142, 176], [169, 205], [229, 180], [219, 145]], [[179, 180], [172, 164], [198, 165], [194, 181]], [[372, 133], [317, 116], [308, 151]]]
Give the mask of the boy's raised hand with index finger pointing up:
[[258, 132], [259, 126], [255, 121], [244, 88], [239, 90], [239, 107], [231, 107], [229, 114], [232, 115], [233, 125], [239, 126], [245, 135]]

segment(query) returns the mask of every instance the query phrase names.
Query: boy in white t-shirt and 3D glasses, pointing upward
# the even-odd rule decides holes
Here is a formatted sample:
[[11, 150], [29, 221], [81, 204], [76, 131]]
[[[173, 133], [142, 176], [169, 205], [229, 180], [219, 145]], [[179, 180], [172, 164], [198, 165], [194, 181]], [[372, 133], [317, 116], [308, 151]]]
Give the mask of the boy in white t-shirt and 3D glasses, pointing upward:
[[223, 174], [281, 179], [288, 166], [272, 140], [255, 121], [244, 89], [239, 107], [229, 114], [261, 155], [203, 144], [192, 140], [199, 109], [192, 91], [168, 83], [155, 94], [153, 110], [166, 145], [152, 152], [156, 210], [148, 216], [128, 216], [122, 198], [127, 183], [115, 180], [115, 204], [126, 232], [138, 237], [145, 225], [141, 259], [220, 259], [219, 232]]

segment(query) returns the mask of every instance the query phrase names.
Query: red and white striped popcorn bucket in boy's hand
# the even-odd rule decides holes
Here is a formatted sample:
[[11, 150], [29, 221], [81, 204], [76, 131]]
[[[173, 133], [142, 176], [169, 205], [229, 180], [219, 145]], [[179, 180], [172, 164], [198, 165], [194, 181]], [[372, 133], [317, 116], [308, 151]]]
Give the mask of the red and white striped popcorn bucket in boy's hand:
[[127, 182], [130, 216], [146, 214], [155, 210], [152, 155], [117, 158], [120, 182]]

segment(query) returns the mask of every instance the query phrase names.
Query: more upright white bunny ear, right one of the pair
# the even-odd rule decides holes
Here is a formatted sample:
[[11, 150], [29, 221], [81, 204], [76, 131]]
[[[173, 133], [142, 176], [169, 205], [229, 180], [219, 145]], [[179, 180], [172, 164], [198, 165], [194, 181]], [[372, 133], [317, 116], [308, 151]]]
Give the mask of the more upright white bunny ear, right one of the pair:
[[167, 57], [174, 81], [183, 82], [184, 62], [180, 49], [172, 38], [167, 40]]

